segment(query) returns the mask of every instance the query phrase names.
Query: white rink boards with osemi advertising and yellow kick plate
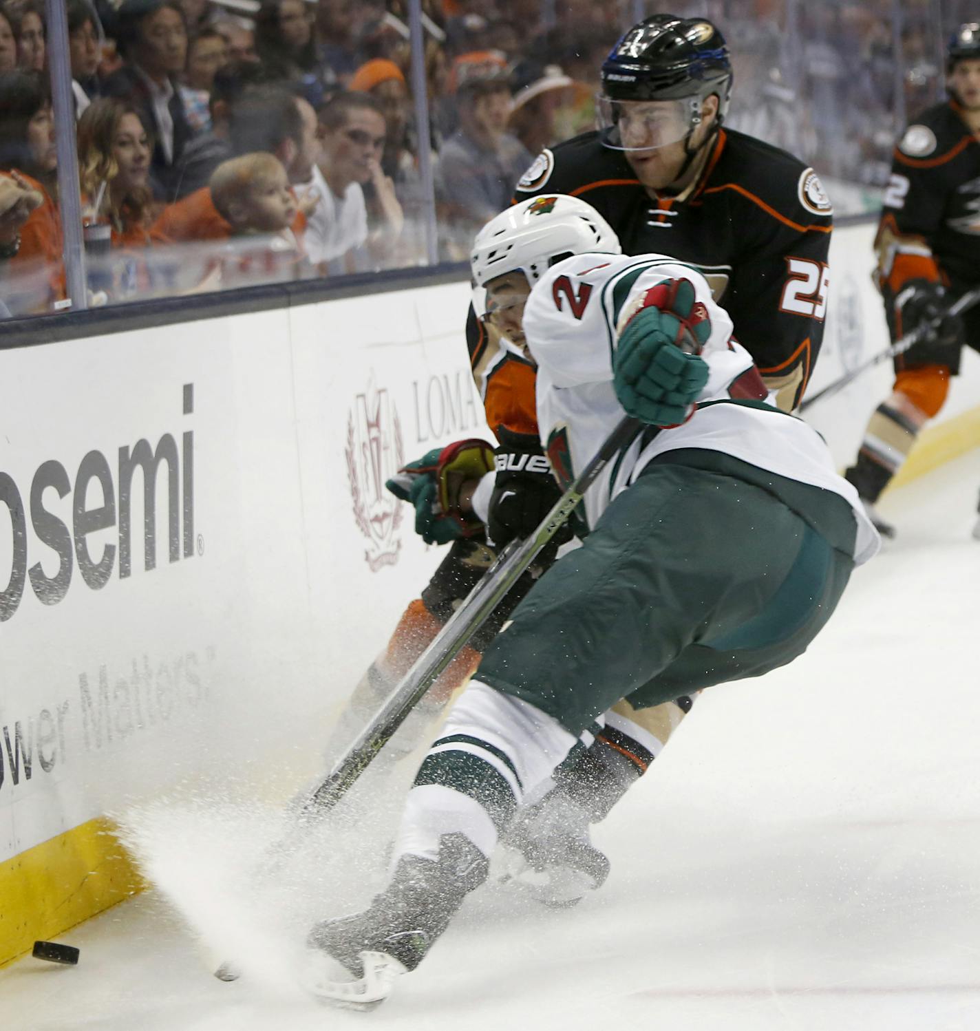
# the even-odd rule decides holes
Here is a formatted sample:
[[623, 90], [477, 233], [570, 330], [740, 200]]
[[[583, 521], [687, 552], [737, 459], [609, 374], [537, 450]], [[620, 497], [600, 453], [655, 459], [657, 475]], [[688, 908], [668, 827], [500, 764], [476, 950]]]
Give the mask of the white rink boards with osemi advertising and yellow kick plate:
[[[819, 389], [886, 345], [839, 231]], [[314, 772], [439, 554], [383, 491], [486, 435], [465, 282], [0, 352], [0, 963], [138, 890], [113, 813]], [[977, 443], [974, 356], [907, 475]], [[879, 367], [814, 406], [838, 464]]]

